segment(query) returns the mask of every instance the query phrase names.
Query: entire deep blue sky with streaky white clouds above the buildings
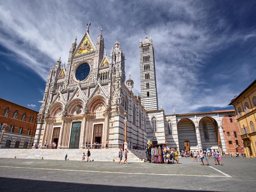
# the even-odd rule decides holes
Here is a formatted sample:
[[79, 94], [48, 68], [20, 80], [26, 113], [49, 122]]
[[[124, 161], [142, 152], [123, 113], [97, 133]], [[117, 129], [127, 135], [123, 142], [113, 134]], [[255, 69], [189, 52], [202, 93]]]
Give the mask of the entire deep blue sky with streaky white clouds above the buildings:
[[[152, 36], [158, 101], [166, 114], [228, 107], [255, 79], [255, 1], [1, 1], [0, 97], [39, 110], [53, 63], [86, 23], [103, 28], [108, 55], [116, 39], [126, 74], [140, 90], [139, 40]], [[128, 75], [126, 75], [128, 76]]]

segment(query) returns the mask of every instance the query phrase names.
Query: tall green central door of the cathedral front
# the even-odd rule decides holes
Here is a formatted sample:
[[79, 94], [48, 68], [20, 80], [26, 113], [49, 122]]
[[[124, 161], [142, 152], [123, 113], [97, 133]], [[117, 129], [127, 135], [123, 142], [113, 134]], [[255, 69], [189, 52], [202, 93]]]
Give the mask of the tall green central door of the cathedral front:
[[81, 131], [81, 121], [73, 122], [72, 130], [70, 135], [70, 149], [78, 149], [79, 148], [79, 141], [80, 141], [80, 131]]

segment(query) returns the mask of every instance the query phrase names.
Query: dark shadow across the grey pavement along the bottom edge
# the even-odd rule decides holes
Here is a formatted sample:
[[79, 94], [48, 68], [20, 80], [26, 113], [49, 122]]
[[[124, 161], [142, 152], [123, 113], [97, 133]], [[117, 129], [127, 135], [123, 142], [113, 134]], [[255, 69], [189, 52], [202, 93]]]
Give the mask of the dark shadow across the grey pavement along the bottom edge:
[[[120, 181], [120, 185], [122, 185]], [[68, 183], [68, 182], [57, 182], [57, 181], [43, 181], [43, 180], [28, 180], [28, 179], [16, 179], [16, 178], [5, 178], [0, 177], [0, 191], [19, 191], [19, 192], [30, 192], [30, 191], [47, 191], [47, 192], [71, 192], [71, 191], [104, 191], [104, 192], [122, 192], [122, 191], [172, 191], [172, 192], [199, 192], [200, 190], [181, 190], [181, 189], [162, 189], [162, 188], [146, 188], [146, 187], [132, 187], [132, 186], [112, 186], [112, 185], [97, 185], [87, 183]], [[201, 190], [204, 192], [209, 192]], [[200, 192], [201, 192], [200, 191]]]

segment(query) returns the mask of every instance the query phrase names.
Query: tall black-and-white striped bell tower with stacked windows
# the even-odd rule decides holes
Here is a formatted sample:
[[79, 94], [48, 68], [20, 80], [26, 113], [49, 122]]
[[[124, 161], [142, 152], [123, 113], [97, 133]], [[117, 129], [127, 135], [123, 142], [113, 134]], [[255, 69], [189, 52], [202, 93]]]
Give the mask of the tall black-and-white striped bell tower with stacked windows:
[[158, 110], [154, 46], [147, 32], [143, 43], [140, 39], [140, 94], [147, 110]]

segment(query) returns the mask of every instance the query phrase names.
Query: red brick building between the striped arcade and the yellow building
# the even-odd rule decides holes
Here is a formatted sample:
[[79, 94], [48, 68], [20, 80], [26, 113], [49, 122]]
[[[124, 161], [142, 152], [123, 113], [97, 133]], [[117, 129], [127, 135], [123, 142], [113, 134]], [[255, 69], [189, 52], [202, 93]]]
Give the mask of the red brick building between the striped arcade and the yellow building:
[[222, 119], [222, 126], [228, 154], [230, 155], [230, 152], [232, 152], [233, 155], [236, 152], [244, 152], [244, 150], [242, 150], [244, 146], [243, 140], [241, 138], [241, 133], [236, 120], [236, 116], [225, 116]]

